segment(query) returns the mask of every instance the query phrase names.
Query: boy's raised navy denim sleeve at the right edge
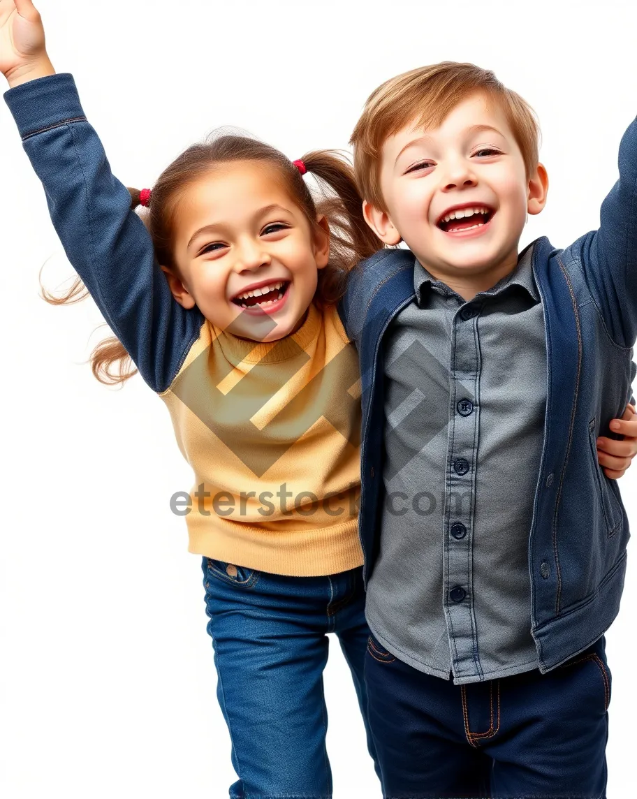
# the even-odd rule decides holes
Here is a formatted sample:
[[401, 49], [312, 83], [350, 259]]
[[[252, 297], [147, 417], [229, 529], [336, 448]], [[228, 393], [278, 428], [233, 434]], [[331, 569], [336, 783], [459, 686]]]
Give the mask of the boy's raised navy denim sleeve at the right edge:
[[571, 244], [567, 256], [579, 262], [612, 340], [630, 348], [637, 338], [637, 119], [623, 134], [618, 161], [599, 229]]

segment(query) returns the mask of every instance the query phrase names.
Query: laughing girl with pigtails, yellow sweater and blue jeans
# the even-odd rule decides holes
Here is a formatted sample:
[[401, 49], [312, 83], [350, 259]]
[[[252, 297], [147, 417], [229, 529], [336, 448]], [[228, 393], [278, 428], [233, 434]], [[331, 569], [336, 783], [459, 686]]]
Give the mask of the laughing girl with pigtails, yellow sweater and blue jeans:
[[[290, 162], [221, 137], [181, 153], [152, 191], [125, 189], [73, 78], [54, 73], [30, 0], [0, 0], [0, 70], [81, 278], [54, 301], [78, 300], [83, 281], [117, 336], [94, 351], [95, 376], [126, 380], [132, 360], [195, 473], [173, 510], [203, 556], [230, 796], [329, 797], [325, 634], [340, 639], [363, 716], [368, 642], [357, 362], [336, 301], [380, 242], [351, 170], [331, 153]], [[315, 204], [305, 172], [332, 197]]]

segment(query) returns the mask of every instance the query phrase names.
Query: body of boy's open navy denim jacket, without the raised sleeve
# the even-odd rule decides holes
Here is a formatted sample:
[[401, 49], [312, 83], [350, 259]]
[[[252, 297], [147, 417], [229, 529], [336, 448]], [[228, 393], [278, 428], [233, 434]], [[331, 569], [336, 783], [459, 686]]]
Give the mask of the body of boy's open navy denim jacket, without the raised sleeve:
[[[537, 481], [528, 543], [531, 632], [542, 672], [584, 650], [611, 625], [630, 536], [619, 488], [599, 467], [595, 439], [617, 438], [608, 422], [631, 400], [632, 348], [617, 339], [634, 340], [637, 313], [623, 319], [615, 308], [599, 307], [603, 292], [591, 288], [581, 264], [586, 238], [563, 251], [540, 238], [533, 258], [547, 346], [543, 453], [539, 475], [529, 475]], [[352, 273], [340, 307], [360, 356], [365, 580], [377, 554], [384, 491], [383, 339], [392, 319], [414, 300], [413, 264], [408, 250], [376, 253]]]

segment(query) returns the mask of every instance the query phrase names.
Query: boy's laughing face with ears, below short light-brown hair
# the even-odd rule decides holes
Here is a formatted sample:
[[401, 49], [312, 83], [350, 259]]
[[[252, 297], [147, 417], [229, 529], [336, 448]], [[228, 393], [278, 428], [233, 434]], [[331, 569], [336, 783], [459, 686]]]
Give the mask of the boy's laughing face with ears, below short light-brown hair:
[[547, 186], [543, 165], [526, 175], [502, 109], [476, 92], [440, 127], [408, 125], [384, 142], [387, 210], [365, 203], [364, 212], [386, 244], [403, 239], [433, 276], [469, 299], [515, 268], [527, 214], [543, 209]]

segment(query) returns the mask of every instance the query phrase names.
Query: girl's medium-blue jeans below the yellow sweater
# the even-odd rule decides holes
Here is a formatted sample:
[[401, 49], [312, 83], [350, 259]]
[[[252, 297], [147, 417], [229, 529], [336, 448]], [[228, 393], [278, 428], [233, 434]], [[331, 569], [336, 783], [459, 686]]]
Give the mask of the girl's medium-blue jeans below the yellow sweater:
[[[362, 569], [284, 577], [204, 558], [217, 697], [239, 777], [232, 799], [328, 799], [323, 670], [336, 633], [367, 729]], [[371, 737], [368, 747], [373, 757]]]

